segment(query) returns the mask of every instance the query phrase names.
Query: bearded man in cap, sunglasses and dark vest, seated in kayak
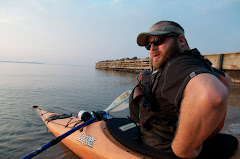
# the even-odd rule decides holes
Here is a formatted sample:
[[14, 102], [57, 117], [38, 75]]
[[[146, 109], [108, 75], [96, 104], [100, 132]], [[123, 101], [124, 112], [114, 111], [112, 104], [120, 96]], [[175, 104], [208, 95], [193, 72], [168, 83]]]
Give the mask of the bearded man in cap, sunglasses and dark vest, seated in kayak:
[[[233, 155], [237, 139], [218, 134], [231, 78], [211, 67], [197, 49], [190, 49], [176, 22], [154, 24], [138, 35], [137, 44], [149, 51], [155, 70], [141, 75], [130, 99], [130, 117], [141, 125], [143, 141], [180, 158]], [[222, 138], [237, 143], [230, 151], [213, 152]]]

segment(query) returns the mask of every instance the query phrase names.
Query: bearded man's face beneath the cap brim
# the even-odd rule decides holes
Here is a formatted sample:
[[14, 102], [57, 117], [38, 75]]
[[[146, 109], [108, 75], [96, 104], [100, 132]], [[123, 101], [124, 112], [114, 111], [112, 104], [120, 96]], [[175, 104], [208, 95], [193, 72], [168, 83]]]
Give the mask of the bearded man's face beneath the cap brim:
[[[157, 37], [159, 36], [149, 36], [148, 42], [152, 42]], [[177, 37], [168, 37], [165, 38], [164, 41], [158, 46], [153, 44], [151, 45], [149, 50], [150, 60], [153, 64], [153, 67], [155, 69], [159, 69], [163, 67], [173, 55], [179, 52], [181, 52], [181, 48]]]

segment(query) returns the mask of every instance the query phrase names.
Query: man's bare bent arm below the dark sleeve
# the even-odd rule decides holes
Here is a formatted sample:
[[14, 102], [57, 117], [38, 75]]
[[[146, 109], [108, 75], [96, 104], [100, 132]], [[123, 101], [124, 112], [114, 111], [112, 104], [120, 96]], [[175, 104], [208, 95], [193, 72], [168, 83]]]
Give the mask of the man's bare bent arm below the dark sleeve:
[[181, 103], [173, 152], [181, 158], [199, 155], [203, 141], [221, 122], [227, 107], [228, 89], [215, 76], [204, 73], [189, 81]]

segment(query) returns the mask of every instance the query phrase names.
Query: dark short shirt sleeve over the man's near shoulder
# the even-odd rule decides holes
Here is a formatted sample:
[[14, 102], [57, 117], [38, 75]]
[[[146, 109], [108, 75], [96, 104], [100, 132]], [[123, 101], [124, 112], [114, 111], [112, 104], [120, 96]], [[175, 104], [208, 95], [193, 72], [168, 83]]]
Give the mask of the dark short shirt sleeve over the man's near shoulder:
[[191, 56], [179, 56], [165, 66], [162, 78], [162, 96], [180, 107], [184, 89], [188, 82], [201, 73], [211, 73], [203, 61]]

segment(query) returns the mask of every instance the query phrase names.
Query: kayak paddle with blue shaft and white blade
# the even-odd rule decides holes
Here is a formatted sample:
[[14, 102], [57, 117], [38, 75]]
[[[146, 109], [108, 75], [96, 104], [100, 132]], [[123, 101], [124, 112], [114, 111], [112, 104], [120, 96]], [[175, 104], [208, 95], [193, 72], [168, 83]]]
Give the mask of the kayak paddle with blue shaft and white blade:
[[[128, 98], [131, 94], [131, 90], [128, 90], [126, 92], [124, 92], [123, 94], [121, 94], [118, 98], [116, 98], [113, 103], [108, 106], [101, 115], [104, 115], [106, 113], [109, 112], [114, 112], [114, 111], [120, 111], [123, 110], [125, 108], [128, 107]], [[96, 117], [93, 117], [91, 119], [89, 119], [88, 121], [78, 125], [77, 127], [69, 130], [68, 132], [62, 134], [61, 136], [56, 137], [55, 139], [51, 140], [49, 143], [39, 147], [38, 149], [36, 149], [35, 151], [33, 151], [32, 153], [28, 154], [27, 156], [23, 157], [22, 159], [29, 159], [29, 158], [33, 158], [34, 156], [38, 155], [39, 153], [43, 152], [44, 150], [48, 149], [51, 146], [56, 145], [57, 143], [59, 143], [62, 139], [64, 139], [65, 137], [67, 137], [68, 135], [74, 133], [75, 131], [77, 131], [78, 129], [91, 124], [92, 122], [94, 122], [96, 120]]]

